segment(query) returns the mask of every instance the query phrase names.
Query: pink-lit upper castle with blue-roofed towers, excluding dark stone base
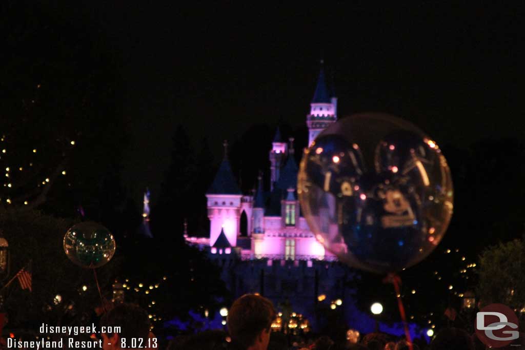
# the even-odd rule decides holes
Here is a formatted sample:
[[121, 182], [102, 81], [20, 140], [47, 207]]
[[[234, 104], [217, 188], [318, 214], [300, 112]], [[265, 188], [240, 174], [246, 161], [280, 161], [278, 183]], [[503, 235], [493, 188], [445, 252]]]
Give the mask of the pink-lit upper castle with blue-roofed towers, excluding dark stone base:
[[[322, 61], [321, 61], [322, 63]], [[309, 144], [337, 120], [337, 98], [329, 88], [321, 66], [310, 114], [306, 116]], [[186, 237], [190, 244], [209, 249], [211, 254], [236, 254], [241, 260], [291, 260], [298, 264], [312, 260], [333, 261], [335, 257], [316, 240], [300, 215], [297, 197], [298, 166], [293, 156], [293, 139], [282, 140], [279, 129], [269, 151], [270, 195], [265, 196], [259, 176], [255, 196], [243, 195], [225, 156], [206, 198], [211, 222], [209, 238]], [[245, 215], [247, 237], [240, 235]]]

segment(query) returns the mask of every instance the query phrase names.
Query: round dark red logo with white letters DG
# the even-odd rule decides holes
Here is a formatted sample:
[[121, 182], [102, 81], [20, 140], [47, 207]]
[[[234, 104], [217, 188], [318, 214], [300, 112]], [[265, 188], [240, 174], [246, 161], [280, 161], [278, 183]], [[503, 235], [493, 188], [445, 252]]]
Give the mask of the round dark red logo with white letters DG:
[[507, 346], [519, 338], [518, 317], [503, 304], [485, 306], [476, 315], [476, 335], [489, 347]]

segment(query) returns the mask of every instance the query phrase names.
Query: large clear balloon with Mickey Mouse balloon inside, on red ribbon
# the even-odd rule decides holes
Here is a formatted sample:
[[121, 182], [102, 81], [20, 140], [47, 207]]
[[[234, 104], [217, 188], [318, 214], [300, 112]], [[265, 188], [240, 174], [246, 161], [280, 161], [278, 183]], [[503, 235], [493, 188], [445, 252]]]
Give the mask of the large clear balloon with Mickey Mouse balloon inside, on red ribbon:
[[450, 169], [436, 142], [387, 114], [352, 115], [319, 134], [302, 157], [298, 194], [325, 248], [379, 273], [428, 256], [453, 210]]

